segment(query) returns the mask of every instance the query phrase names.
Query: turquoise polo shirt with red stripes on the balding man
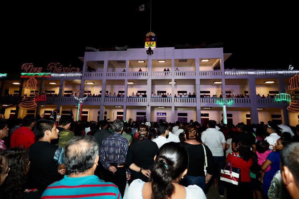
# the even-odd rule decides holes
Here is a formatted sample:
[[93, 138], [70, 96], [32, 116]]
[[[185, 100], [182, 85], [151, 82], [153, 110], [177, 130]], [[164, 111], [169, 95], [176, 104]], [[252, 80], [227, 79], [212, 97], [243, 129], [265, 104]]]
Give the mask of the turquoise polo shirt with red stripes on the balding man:
[[68, 177], [51, 184], [43, 193], [43, 198], [121, 198], [117, 186], [104, 182], [95, 175]]

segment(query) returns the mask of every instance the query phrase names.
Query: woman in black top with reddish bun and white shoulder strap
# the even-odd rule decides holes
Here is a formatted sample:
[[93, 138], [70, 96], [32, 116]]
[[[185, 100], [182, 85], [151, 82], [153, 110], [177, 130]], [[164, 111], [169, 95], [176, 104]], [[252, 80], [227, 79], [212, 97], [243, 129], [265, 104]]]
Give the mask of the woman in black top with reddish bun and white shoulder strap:
[[[182, 180], [182, 185], [197, 185], [204, 190], [205, 185], [210, 181], [213, 175], [213, 155], [211, 150], [204, 144], [198, 142], [198, 134], [192, 125], [185, 127], [186, 141], [182, 145], [187, 149], [189, 155], [189, 167], [187, 175]], [[205, 151], [206, 150], [206, 175], [205, 166]]]

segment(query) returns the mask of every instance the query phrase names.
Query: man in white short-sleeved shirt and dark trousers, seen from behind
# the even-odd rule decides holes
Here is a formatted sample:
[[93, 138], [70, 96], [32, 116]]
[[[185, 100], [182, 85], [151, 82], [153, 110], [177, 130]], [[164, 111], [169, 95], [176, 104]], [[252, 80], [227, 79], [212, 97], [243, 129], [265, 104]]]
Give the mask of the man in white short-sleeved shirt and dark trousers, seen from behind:
[[[214, 168], [214, 181], [215, 186], [219, 184], [219, 194], [220, 196], [224, 196], [224, 184], [220, 181], [220, 170], [224, 165], [224, 149], [226, 146], [226, 141], [224, 135], [221, 131], [216, 130], [216, 121], [209, 120], [207, 123], [208, 129], [202, 132], [202, 143], [206, 145], [212, 152], [213, 155], [213, 168]], [[218, 183], [217, 183], [218, 180]]]

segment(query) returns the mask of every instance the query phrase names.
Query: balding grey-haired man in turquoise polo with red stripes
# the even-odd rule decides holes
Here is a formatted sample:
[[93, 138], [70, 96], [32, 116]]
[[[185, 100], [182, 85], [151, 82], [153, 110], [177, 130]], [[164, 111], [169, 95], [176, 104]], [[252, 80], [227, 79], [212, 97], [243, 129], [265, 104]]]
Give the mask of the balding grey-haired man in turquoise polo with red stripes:
[[121, 199], [115, 184], [93, 175], [99, 160], [99, 145], [93, 136], [79, 136], [70, 140], [64, 151], [67, 175], [49, 185], [45, 198], [101, 198]]

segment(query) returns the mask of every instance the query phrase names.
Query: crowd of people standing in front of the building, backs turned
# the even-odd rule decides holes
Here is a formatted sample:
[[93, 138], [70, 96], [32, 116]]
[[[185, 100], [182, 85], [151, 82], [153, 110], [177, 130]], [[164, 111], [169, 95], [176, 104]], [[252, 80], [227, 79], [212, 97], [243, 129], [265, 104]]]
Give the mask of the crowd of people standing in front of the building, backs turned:
[[[271, 121], [0, 119], [1, 198], [297, 198], [298, 140]], [[220, 180], [229, 165], [238, 185]]]

